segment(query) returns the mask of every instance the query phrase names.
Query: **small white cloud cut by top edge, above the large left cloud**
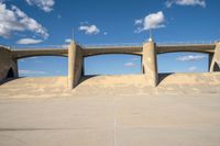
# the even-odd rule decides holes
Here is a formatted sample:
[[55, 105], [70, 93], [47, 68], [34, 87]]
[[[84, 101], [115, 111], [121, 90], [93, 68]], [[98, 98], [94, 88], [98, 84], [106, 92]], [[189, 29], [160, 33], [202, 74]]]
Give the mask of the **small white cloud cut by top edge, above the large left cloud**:
[[45, 12], [51, 12], [53, 5], [55, 4], [54, 0], [25, 0], [30, 5], [36, 5]]

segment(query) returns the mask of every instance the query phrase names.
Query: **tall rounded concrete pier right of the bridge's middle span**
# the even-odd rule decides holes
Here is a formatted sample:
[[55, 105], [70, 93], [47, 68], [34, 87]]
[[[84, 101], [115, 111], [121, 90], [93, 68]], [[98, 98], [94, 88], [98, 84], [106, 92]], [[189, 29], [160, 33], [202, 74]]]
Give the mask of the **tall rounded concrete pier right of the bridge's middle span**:
[[158, 83], [156, 44], [150, 40], [143, 45], [142, 58], [143, 72], [150, 80], [151, 86], [156, 87]]

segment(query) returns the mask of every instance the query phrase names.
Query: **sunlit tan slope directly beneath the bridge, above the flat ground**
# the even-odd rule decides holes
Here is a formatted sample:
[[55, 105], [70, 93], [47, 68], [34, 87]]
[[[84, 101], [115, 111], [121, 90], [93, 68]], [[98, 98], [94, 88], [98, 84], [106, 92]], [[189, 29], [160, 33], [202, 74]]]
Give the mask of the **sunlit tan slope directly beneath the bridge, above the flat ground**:
[[160, 80], [152, 88], [143, 75], [84, 77], [75, 90], [68, 90], [66, 77], [19, 78], [0, 86], [0, 98], [220, 92], [219, 72], [163, 75]]

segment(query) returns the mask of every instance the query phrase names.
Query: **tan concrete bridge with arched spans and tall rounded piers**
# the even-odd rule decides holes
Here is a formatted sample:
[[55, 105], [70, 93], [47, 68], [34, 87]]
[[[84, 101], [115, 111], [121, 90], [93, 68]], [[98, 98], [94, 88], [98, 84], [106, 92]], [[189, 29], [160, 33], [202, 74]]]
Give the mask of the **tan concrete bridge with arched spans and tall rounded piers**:
[[153, 40], [143, 46], [94, 46], [82, 48], [72, 42], [68, 48], [34, 48], [11, 50], [0, 46], [0, 81], [9, 77], [18, 77], [18, 59], [33, 56], [64, 56], [68, 57], [68, 87], [75, 88], [84, 76], [84, 58], [103, 54], [130, 54], [142, 57], [143, 74], [152, 86], [158, 83], [157, 54], [175, 52], [195, 52], [209, 55], [209, 70], [220, 70], [220, 43], [187, 44], [187, 45], [156, 45]]

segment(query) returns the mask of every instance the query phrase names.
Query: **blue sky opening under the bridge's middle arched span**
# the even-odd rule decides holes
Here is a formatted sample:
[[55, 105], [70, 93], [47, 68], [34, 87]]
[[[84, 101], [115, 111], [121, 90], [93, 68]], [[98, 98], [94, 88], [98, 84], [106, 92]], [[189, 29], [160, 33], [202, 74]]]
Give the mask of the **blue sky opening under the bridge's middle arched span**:
[[141, 56], [103, 54], [84, 58], [85, 76], [142, 74]]

